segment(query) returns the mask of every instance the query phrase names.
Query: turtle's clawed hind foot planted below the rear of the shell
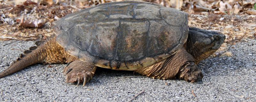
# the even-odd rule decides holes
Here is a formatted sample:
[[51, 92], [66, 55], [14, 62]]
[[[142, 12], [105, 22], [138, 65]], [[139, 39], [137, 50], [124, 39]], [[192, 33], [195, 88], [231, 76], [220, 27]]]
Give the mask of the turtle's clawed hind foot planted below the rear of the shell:
[[89, 80], [92, 80], [95, 70], [95, 65], [89, 64], [88, 62], [75, 60], [64, 69], [63, 73], [66, 75], [67, 83], [77, 82], [78, 86], [80, 82], [84, 82], [84, 86], [87, 82], [89, 82]]

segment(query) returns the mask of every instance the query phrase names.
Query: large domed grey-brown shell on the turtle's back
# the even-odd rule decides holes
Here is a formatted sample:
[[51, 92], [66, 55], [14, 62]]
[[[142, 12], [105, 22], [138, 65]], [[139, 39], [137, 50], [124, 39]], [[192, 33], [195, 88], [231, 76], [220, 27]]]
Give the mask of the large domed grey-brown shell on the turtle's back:
[[136, 70], [176, 53], [188, 37], [188, 14], [154, 3], [99, 4], [54, 22], [57, 43], [102, 68]]

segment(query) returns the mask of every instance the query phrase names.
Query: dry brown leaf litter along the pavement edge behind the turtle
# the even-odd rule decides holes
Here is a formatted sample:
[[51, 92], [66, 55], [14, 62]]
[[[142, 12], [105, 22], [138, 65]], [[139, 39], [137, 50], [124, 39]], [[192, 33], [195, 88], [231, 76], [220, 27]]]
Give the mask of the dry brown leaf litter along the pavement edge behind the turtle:
[[[0, 0], [0, 40], [45, 40], [52, 22], [75, 11], [124, 0]], [[138, 0], [137, 0], [138, 1]], [[189, 26], [226, 35], [212, 57], [232, 56], [236, 42], [256, 39], [256, 0], [140, 0], [189, 14]]]

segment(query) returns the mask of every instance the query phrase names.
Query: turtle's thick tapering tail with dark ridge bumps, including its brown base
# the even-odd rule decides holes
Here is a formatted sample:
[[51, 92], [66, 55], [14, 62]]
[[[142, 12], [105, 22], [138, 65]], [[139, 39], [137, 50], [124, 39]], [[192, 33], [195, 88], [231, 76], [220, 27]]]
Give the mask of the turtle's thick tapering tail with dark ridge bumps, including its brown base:
[[67, 62], [65, 57], [69, 57], [69, 55], [64, 53], [64, 49], [56, 43], [55, 38], [53, 37], [45, 42], [37, 41], [37, 46], [30, 47], [29, 50], [24, 51], [24, 54], [20, 54], [17, 61], [14, 61], [9, 68], [0, 73], [0, 78], [11, 75], [36, 63]]

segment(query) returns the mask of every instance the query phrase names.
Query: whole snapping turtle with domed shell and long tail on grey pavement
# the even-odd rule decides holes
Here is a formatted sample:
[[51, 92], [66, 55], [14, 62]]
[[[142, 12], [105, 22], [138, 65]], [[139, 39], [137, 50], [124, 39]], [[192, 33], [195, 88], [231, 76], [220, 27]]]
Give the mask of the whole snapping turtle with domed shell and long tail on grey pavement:
[[21, 54], [0, 78], [35, 63], [68, 63], [66, 82], [83, 86], [96, 67], [193, 83], [203, 77], [196, 64], [225, 39], [223, 34], [189, 28], [185, 12], [137, 1], [99, 4], [54, 24], [55, 36], [36, 42], [38, 47]]

